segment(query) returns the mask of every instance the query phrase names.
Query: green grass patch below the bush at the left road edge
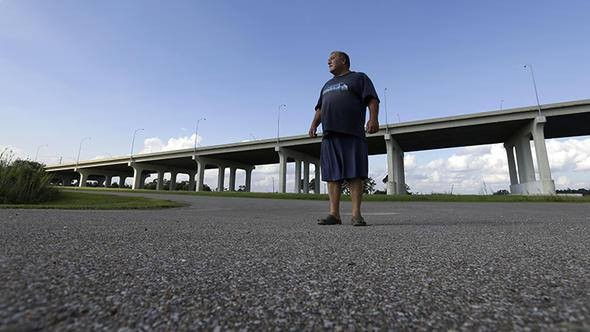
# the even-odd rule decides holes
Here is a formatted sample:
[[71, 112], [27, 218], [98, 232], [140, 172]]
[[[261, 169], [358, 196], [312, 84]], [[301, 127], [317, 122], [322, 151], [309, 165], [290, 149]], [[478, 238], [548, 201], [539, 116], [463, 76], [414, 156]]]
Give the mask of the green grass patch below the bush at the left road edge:
[[0, 204], [0, 208], [68, 209], [68, 210], [119, 210], [156, 209], [184, 206], [170, 200], [137, 196], [62, 191], [57, 199], [36, 204]]

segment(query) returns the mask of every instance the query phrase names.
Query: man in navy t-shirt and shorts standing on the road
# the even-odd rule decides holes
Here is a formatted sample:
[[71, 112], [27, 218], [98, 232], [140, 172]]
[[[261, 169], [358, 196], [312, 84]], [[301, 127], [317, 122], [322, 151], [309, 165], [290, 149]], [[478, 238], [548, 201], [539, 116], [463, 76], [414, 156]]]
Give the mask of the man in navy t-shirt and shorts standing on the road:
[[[369, 168], [365, 130], [369, 134], [379, 130], [379, 98], [367, 75], [350, 70], [350, 58], [346, 53], [332, 52], [328, 68], [334, 77], [322, 88], [309, 128], [309, 136], [315, 137], [322, 124], [322, 180], [328, 182], [330, 197], [330, 214], [318, 224], [342, 224], [340, 193], [342, 182], [346, 181], [352, 200], [351, 223], [366, 226], [361, 216], [363, 181], [368, 177]], [[367, 107], [369, 121], [365, 125]]]

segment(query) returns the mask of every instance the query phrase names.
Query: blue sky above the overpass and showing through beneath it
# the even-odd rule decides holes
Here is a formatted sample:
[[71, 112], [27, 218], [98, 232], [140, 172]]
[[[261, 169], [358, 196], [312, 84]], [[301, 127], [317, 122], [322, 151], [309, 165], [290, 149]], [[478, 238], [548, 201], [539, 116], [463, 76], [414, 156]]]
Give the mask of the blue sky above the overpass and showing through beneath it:
[[[525, 63], [541, 103], [587, 99], [589, 12], [587, 1], [0, 0], [0, 145], [34, 158], [47, 144], [41, 161], [71, 162], [90, 136], [81, 159], [125, 155], [136, 128], [137, 151], [190, 144], [201, 117], [202, 145], [271, 138], [283, 103], [281, 134], [305, 134], [336, 49], [387, 87], [389, 122], [532, 105]], [[569, 158], [584, 159], [585, 139], [569, 141], [582, 149]], [[486, 149], [409, 157], [420, 169]], [[588, 186], [569, 166], [554, 178]], [[448, 187], [428, 183], [416, 187]]]

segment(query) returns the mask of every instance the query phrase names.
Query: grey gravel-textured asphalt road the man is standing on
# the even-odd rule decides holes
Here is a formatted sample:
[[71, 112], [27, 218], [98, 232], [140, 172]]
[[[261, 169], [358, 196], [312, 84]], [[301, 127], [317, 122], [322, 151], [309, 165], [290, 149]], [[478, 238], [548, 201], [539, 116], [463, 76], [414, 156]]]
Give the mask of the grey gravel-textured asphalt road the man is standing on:
[[588, 204], [161, 197], [0, 209], [0, 330], [590, 329]]

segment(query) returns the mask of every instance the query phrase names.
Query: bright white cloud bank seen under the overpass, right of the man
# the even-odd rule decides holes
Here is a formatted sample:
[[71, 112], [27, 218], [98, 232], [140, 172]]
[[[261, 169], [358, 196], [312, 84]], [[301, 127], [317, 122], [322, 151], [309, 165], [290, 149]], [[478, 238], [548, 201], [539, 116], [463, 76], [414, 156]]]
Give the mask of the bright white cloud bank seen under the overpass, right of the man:
[[[574, 180], [582, 175], [576, 176], [577, 173], [590, 170], [590, 138], [547, 140], [546, 145], [557, 188], [590, 186], [587, 177]], [[408, 161], [408, 156], [414, 160]], [[418, 162], [419, 156], [420, 152], [414, 152], [406, 154], [405, 159], [406, 183], [414, 192], [449, 192], [453, 188], [454, 193], [477, 194], [510, 186], [506, 150], [502, 144], [458, 148], [451, 156], [425, 163]], [[408, 167], [410, 163], [414, 165]]]

